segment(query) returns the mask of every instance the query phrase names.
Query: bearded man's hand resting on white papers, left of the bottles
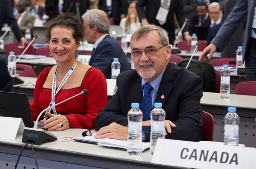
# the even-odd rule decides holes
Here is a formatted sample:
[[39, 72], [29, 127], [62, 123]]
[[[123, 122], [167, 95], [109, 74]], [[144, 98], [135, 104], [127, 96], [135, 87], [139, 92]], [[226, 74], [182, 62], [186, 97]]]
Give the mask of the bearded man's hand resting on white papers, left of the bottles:
[[113, 138], [117, 140], [127, 140], [128, 127], [122, 126], [115, 122], [108, 126], [102, 127], [95, 135], [95, 139]]

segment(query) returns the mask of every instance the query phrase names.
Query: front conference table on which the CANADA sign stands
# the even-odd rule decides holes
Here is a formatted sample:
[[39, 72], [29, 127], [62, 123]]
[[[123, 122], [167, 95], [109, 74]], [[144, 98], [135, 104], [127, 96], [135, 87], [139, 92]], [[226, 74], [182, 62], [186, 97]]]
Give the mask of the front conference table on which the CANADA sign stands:
[[[81, 137], [85, 129], [68, 129], [51, 132], [58, 138]], [[22, 135], [15, 140], [0, 139], [0, 169], [14, 169], [18, 155], [24, 145]], [[54, 141], [34, 145], [39, 169], [180, 169], [152, 164], [149, 149], [144, 150], [141, 159], [128, 158], [125, 149], [79, 143]], [[28, 145], [20, 158], [18, 169], [36, 169], [31, 146]]]

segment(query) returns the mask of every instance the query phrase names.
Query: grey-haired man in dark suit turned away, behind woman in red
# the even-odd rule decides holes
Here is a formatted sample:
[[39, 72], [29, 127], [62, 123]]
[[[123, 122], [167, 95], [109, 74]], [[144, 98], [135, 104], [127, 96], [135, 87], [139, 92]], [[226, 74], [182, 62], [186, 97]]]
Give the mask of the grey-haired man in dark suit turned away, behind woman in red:
[[94, 44], [89, 65], [100, 69], [107, 79], [111, 79], [111, 63], [118, 58], [121, 63], [120, 72], [130, 70], [125, 53], [117, 40], [108, 35], [109, 20], [101, 10], [89, 10], [82, 16], [84, 20], [86, 40]]

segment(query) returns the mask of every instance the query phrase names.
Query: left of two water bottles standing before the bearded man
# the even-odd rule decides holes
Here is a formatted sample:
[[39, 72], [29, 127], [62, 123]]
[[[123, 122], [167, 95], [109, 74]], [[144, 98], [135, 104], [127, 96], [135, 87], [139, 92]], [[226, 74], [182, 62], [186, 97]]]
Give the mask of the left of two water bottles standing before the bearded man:
[[128, 146], [129, 157], [139, 157], [142, 152], [142, 111], [139, 103], [132, 103], [128, 112]]

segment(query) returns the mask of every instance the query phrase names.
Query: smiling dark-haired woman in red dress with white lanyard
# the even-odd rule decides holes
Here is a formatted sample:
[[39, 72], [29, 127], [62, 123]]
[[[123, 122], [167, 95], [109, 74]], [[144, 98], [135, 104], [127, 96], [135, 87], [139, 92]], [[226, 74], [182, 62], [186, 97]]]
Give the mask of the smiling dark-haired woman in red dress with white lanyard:
[[82, 24], [77, 16], [57, 16], [48, 26], [47, 38], [50, 56], [57, 65], [45, 68], [38, 76], [34, 100], [30, 104], [33, 120], [43, 109], [54, 105], [55, 99], [56, 104], [88, 89], [87, 95], [80, 95], [51, 109], [53, 114], [49, 110], [44, 128], [48, 131], [94, 128], [94, 119], [107, 104], [107, 84], [99, 69], [76, 60], [76, 50], [84, 38]]

